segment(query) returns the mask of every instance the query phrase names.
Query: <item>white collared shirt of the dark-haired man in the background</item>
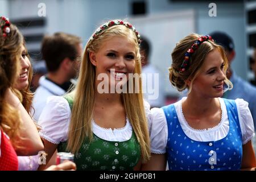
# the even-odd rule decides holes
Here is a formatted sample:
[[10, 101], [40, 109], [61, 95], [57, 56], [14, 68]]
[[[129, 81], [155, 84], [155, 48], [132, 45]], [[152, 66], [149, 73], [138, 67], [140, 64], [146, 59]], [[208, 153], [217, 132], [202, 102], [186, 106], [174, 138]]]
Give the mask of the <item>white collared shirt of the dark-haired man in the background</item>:
[[38, 122], [39, 116], [43, 111], [44, 106], [46, 106], [47, 98], [49, 96], [62, 96], [65, 94], [65, 90], [53, 84], [53, 82], [46, 80], [45, 76], [40, 77], [39, 87], [36, 89], [35, 96], [32, 101], [32, 105], [35, 109], [33, 118]]

